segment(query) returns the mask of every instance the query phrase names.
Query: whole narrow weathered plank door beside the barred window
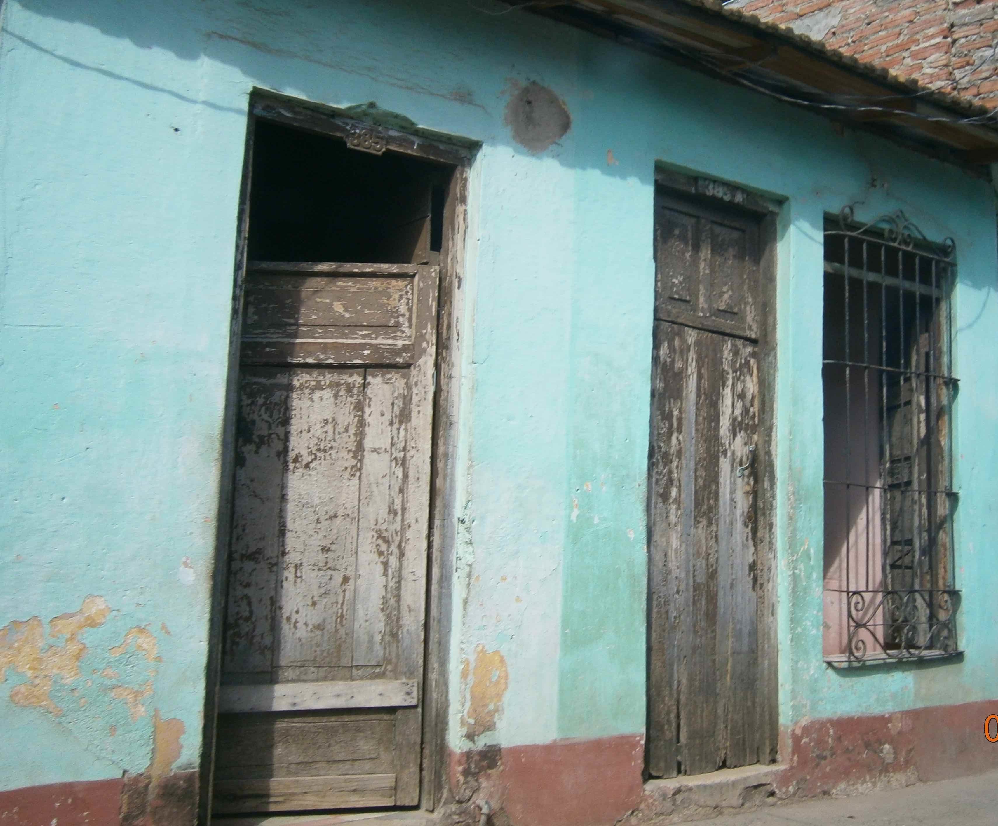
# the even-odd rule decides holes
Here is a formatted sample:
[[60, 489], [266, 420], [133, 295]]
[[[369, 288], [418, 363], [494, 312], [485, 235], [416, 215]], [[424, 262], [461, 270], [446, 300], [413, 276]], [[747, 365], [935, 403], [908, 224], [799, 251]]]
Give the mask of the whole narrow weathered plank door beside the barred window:
[[672, 777], [773, 747], [759, 220], [662, 190], [655, 247], [648, 768]]

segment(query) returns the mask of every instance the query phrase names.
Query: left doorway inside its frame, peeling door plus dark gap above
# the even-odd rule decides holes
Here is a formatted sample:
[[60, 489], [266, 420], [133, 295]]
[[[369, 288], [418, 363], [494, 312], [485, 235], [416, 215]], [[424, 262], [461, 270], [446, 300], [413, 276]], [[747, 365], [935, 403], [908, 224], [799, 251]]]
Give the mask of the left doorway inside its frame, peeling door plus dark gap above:
[[[355, 122], [259, 114], [212, 810], [414, 806], [456, 164]], [[376, 154], [350, 148], [361, 128]]]

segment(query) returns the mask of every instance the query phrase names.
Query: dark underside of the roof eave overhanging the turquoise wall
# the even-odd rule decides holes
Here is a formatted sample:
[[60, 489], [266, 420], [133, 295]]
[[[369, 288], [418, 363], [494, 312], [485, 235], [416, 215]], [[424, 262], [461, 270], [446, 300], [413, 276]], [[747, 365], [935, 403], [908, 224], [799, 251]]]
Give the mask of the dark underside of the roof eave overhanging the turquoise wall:
[[998, 162], [998, 111], [715, 0], [560, 0], [525, 8], [949, 163], [985, 172]]

